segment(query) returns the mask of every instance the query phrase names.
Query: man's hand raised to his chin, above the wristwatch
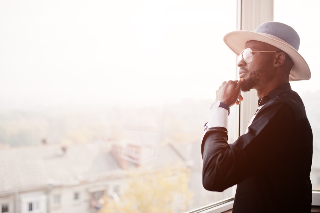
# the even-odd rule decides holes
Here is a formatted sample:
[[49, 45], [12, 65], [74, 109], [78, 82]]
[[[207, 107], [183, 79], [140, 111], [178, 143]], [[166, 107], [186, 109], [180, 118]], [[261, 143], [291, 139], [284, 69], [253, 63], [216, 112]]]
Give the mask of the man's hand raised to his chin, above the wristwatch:
[[216, 101], [221, 101], [231, 107], [234, 104], [239, 104], [243, 101], [243, 97], [240, 94], [240, 89], [244, 82], [244, 78], [238, 81], [223, 82], [216, 92]]

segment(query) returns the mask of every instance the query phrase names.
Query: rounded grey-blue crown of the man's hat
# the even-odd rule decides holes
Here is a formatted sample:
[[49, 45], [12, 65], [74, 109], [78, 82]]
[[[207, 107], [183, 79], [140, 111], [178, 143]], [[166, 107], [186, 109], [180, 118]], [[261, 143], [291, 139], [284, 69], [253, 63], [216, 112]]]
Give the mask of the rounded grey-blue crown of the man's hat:
[[282, 39], [287, 42], [297, 51], [300, 46], [300, 37], [298, 33], [290, 26], [275, 22], [269, 21], [261, 24], [257, 29], [254, 30], [255, 33], [266, 33], [275, 37]]

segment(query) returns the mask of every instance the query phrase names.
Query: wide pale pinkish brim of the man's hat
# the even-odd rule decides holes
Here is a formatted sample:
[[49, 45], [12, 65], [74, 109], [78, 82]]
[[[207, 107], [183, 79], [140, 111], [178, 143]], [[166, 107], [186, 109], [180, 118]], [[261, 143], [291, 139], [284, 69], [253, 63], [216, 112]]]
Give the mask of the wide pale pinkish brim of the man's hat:
[[290, 81], [309, 80], [311, 78], [309, 66], [304, 58], [291, 45], [278, 37], [265, 33], [237, 30], [226, 34], [223, 40], [237, 55], [244, 50], [244, 45], [247, 41], [255, 40], [273, 45], [287, 53], [293, 61], [289, 76]]

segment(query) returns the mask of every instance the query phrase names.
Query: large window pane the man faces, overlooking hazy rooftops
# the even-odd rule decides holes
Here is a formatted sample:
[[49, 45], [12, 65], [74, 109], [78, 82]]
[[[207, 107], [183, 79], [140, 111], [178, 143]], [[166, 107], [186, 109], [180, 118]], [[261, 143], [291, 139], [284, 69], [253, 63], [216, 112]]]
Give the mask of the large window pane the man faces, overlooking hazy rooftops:
[[[235, 0], [5, 1], [0, 20], [0, 194], [48, 188], [41, 209], [80, 200], [74, 212], [233, 196], [204, 190], [200, 144], [216, 90], [236, 79], [223, 42]], [[230, 142], [236, 129], [232, 107]]]

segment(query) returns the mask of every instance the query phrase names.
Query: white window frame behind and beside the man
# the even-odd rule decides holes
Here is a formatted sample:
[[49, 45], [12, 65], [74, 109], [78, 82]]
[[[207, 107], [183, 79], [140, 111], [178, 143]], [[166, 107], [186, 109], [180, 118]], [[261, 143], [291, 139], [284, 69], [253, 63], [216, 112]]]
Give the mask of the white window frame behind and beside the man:
[[[253, 31], [261, 23], [273, 20], [273, 0], [237, 0], [237, 29]], [[238, 74], [237, 74], [238, 75]], [[247, 121], [256, 111], [258, 97], [255, 90], [243, 93], [238, 107], [239, 134], [245, 133]], [[234, 198], [209, 204], [187, 213], [221, 213], [232, 209]], [[312, 191], [312, 206], [320, 206], [320, 190]]]

